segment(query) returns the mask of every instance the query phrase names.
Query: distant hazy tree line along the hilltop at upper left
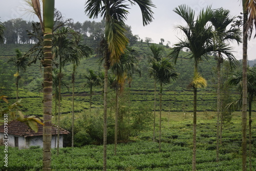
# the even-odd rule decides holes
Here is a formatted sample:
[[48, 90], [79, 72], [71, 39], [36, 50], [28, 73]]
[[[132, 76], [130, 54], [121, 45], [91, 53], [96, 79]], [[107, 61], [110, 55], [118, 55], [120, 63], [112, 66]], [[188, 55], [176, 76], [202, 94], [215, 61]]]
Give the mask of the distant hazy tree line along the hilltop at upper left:
[[[29, 33], [35, 32], [36, 22], [26, 21], [22, 18], [10, 19], [3, 23], [4, 29], [4, 44], [34, 44], [37, 40]], [[71, 28], [79, 32], [82, 35], [84, 44], [95, 45], [95, 42], [99, 42], [104, 34], [104, 20], [101, 22], [86, 20], [83, 23], [76, 22], [73, 23], [70, 19]], [[126, 37], [129, 38], [130, 45], [135, 44], [138, 40], [138, 35], [132, 34], [132, 29], [130, 26], [125, 25]]]

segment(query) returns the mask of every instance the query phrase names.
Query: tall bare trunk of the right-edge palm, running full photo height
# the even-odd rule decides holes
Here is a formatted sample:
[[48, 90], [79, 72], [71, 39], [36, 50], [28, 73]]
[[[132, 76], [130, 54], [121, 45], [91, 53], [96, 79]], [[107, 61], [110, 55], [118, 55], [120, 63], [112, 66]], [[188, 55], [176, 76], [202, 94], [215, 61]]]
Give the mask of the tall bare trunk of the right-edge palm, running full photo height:
[[242, 170], [246, 171], [246, 124], [247, 124], [247, 40], [245, 24], [248, 19], [247, 1], [243, 0], [243, 97], [242, 97]]

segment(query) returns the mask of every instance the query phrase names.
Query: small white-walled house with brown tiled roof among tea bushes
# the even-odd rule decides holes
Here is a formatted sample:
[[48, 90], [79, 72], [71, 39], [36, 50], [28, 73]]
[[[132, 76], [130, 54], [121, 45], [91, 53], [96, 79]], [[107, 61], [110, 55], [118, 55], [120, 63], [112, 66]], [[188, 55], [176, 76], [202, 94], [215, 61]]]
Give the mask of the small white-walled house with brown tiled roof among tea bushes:
[[[35, 133], [27, 124], [13, 120], [8, 123], [8, 145], [18, 148], [29, 148], [30, 146], [42, 147], [42, 125], [38, 125]], [[63, 147], [63, 135], [70, 134], [68, 131], [59, 130], [59, 147]], [[52, 148], [57, 147], [58, 127], [52, 124]], [[4, 140], [4, 125], [0, 126], [0, 142]]]

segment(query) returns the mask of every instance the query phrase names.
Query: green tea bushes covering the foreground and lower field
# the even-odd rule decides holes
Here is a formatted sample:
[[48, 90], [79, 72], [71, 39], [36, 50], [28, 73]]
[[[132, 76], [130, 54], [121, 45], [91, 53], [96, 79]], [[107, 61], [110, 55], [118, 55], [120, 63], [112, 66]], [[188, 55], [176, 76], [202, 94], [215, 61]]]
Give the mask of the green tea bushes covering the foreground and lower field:
[[[252, 116], [256, 119], [255, 113]], [[220, 161], [216, 163], [216, 114], [198, 113], [197, 170], [241, 170], [240, 118], [240, 112], [234, 113], [231, 122], [225, 126], [223, 143], [220, 145]], [[116, 156], [114, 156], [114, 144], [108, 145], [108, 170], [191, 170], [192, 123], [193, 117], [189, 113], [184, 115], [171, 112], [169, 115], [164, 112], [161, 153], [158, 143], [152, 142], [153, 124], [151, 124], [150, 129], [132, 138], [136, 142], [119, 143]], [[256, 133], [255, 128], [253, 126], [252, 135]], [[253, 136], [254, 140], [255, 138]], [[3, 148], [4, 146], [0, 146], [0, 151], [3, 151]], [[252, 149], [252, 168], [256, 168], [255, 144]], [[59, 156], [56, 155], [56, 149], [52, 149], [52, 170], [102, 170], [102, 153], [103, 147], [93, 144], [61, 148]], [[8, 171], [41, 169], [42, 164], [38, 161], [42, 159], [42, 153], [38, 147], [30, 149], [10, 147], [8, 154]], [[0, 158], [0, 162], [3, 162], [3, 158]], [[0, 170], [5, 170], [3, 165], [0, 166]]]

